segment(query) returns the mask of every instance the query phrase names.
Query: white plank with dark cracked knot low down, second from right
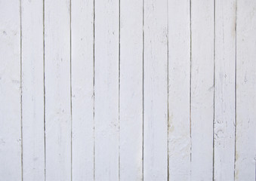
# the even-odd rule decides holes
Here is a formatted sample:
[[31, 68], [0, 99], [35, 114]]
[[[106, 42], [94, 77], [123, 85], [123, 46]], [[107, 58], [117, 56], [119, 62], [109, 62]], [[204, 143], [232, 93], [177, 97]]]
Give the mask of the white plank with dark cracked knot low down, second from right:
[[236, 1], [215, 1], [214, 179], [234, 179]]

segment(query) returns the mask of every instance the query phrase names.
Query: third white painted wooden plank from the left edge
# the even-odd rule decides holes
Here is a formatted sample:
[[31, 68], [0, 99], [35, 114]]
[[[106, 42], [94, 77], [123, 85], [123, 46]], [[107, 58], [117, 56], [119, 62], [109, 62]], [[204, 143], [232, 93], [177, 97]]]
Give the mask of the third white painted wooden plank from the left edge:
[[71, 178], [69, 3], [45, 0], [46, 180]]

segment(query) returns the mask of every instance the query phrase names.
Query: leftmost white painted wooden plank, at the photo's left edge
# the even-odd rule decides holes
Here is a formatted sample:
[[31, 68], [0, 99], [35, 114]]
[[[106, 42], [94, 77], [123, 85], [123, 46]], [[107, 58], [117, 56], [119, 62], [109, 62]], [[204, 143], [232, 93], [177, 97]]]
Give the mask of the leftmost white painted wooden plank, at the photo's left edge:
[[21, 180], [20, 2], [0, 2], [0, 175]]

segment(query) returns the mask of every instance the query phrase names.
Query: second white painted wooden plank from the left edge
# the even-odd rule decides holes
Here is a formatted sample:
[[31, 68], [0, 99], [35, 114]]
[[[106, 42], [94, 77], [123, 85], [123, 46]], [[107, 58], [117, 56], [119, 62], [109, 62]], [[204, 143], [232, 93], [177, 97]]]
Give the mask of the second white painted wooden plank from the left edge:
[[23, 179], [45, 180], [43, 2], [21, 8]]

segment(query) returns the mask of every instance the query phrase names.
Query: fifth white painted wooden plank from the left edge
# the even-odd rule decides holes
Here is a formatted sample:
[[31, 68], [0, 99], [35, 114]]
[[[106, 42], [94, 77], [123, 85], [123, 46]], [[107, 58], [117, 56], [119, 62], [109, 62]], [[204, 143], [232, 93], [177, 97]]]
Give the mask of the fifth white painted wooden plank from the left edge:
[[95, 180], [119, 179], [119, 2], [95, 1]]

